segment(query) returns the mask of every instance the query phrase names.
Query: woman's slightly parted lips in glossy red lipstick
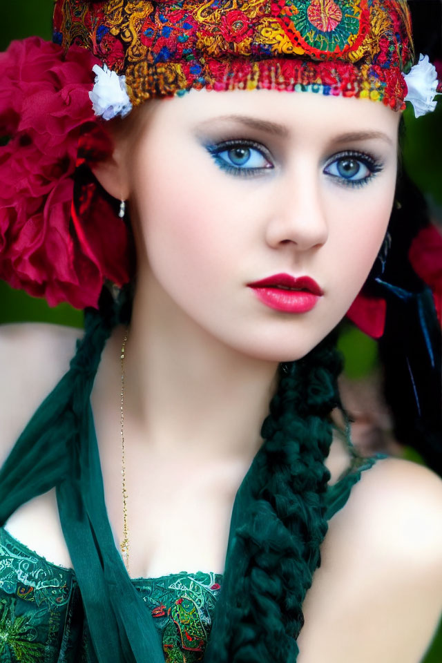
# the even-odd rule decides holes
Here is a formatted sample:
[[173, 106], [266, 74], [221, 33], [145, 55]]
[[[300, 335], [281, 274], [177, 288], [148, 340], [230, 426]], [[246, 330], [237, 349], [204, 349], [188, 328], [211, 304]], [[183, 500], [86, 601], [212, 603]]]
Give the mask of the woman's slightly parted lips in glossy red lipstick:
[[289, 274], [274, 274], [247, 284], [263, 304], [285, 313], [307, 313], [316, 306], [324, 293], [309, 276], [294, 278]]

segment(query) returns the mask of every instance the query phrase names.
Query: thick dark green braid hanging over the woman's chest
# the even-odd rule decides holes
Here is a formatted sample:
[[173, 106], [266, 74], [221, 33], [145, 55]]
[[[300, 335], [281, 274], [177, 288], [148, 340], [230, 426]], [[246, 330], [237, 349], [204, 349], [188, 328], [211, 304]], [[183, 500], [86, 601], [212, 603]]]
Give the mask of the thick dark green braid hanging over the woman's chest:
[[206, 663], [294, 663], [298, 656], [302, 602], [327, 532], [324, 461], [342, 368], [335, 340], [332, 334], [300, 361], [280, 365], [265, 443], [233, 509], [237, 527]]

